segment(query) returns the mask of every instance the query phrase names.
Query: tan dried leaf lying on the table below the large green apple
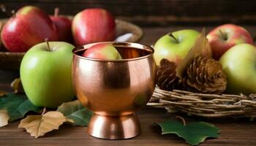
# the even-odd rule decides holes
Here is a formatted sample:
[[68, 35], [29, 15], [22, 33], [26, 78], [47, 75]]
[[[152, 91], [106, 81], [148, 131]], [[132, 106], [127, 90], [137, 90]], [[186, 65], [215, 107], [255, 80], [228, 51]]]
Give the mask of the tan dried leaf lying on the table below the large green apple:
[[59, 129], [67, 118], [61, 112], [51, 111], [42, 115], [29, 115], [20, 120], [18, 128], [26, 128], [31, 137], [42, 137], [49, 131]]

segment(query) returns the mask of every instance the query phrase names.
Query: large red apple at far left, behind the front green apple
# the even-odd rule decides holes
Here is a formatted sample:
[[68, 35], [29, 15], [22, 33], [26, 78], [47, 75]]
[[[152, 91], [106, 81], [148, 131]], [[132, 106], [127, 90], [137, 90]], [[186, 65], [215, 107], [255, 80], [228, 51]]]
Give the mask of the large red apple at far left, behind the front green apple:
[[4, 46], [10, 52], [26, 52], [39, 42], [58, 40], [56, 28], [48, 15], [38, 7], [22, 7], [1, 31]]

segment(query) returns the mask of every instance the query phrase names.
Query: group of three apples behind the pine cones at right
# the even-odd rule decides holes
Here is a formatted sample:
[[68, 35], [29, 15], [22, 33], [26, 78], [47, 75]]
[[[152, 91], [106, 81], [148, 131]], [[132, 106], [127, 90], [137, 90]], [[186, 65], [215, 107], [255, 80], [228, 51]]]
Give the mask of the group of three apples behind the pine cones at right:
[[[166, 34], [154, 45], [157, 65], [166, 58], [179, 64], [200, 35], [195, 30]], [[227, 93], [256, 93], [256, 47], [248, 31], [241, 26], [225, 24], [206, 36], [211, 50], [203, 53], [222, 64], [227, 75]]]

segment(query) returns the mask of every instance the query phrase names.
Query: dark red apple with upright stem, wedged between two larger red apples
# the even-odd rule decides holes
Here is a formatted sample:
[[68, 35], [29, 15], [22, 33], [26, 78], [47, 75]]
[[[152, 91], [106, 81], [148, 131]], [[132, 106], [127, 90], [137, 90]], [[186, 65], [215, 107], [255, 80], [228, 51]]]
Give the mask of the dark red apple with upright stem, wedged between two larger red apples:
[[53, 21], [57, 28], [59, 41], [72, 42], [72, 21], [65, 16], [59, 15], [59, 8], [57, 7], [54, 9], [54, 15], [50, 16], [50, 19]]

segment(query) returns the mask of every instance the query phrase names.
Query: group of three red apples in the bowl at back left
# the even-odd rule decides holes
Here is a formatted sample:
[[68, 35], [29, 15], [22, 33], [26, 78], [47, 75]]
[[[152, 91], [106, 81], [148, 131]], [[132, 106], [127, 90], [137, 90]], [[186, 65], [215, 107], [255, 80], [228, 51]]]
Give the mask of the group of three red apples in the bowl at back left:
[[46, 38], [85, 45], [116, 37], [115, 19], [105, 9], [84, 9], [73, 20], [58, 13], [57, 8], [55, 15], [48, 15], [38, 7], [21, 7], [1, 30], [4, 47], [10, 52], [26, 52]]

